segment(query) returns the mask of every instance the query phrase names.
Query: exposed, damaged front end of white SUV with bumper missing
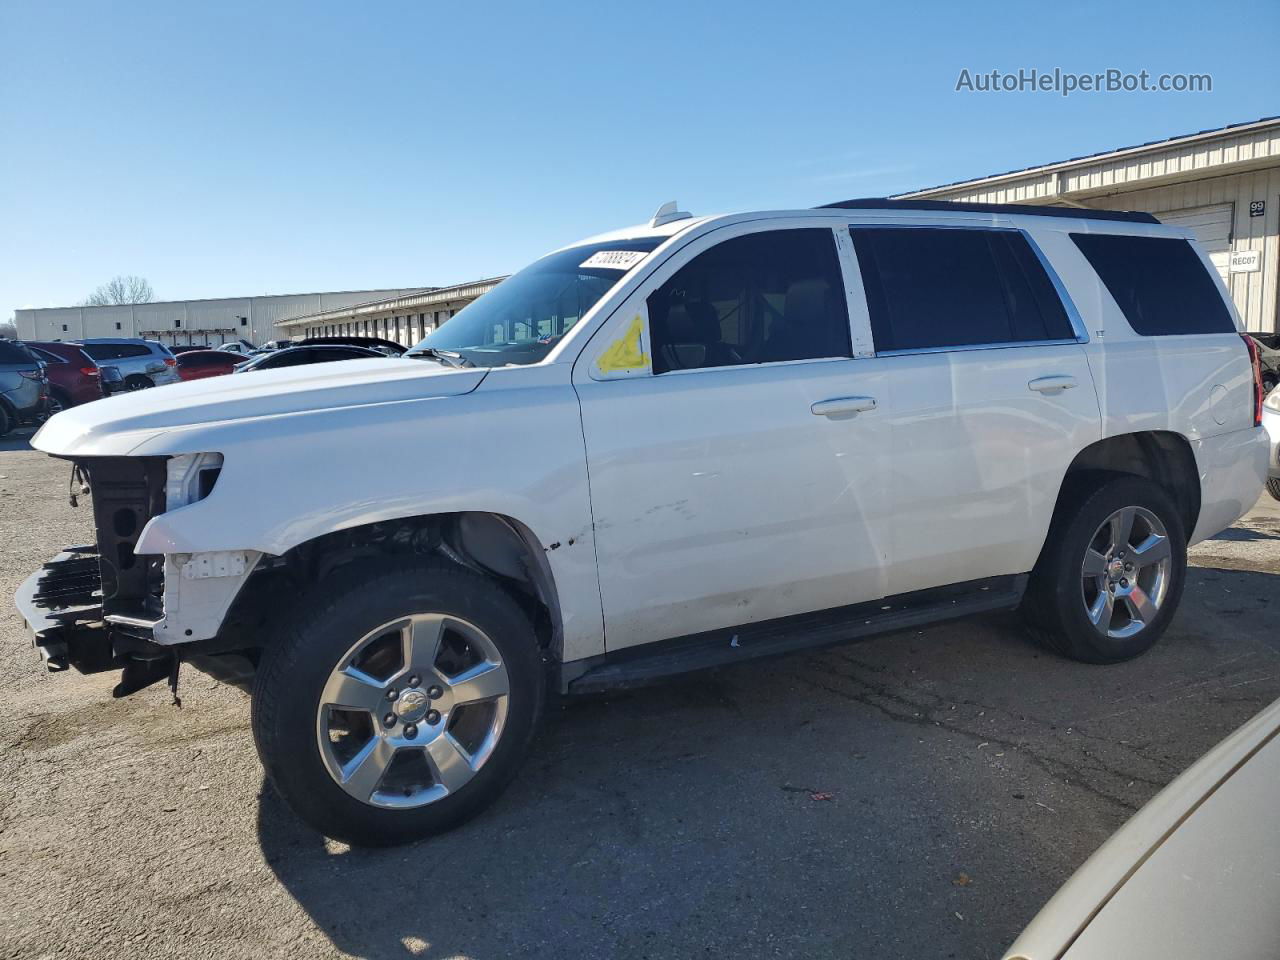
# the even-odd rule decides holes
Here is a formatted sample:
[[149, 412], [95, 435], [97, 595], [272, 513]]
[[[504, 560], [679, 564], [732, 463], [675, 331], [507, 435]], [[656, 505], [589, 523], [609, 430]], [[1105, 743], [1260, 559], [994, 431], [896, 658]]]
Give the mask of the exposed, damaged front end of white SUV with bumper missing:
[[119, 669], [115, 696], [166, 677], [177, 685], [183, 652], [216, 636], [260, 554], [134, 550], [152, 518], [206, 497], [219, 466], [200, 457], [74, 462], [72, 504], [91, 498], [95, 543], [65, 548], [14, 598], [50, 671]]

